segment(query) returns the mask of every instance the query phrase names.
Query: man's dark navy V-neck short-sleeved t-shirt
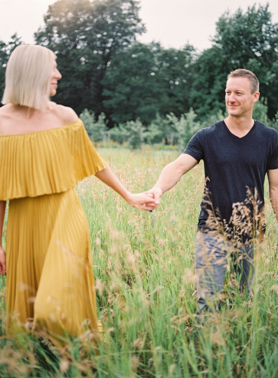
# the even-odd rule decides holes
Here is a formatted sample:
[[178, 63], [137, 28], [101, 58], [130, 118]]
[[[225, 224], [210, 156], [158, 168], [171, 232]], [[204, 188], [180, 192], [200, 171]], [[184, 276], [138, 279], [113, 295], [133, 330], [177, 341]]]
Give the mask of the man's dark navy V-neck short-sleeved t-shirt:
[[255, 121], [249, 133], [239, 138], [219, 121], [196, 132], [184, 153], [198, 162], [204, 160], [206, 180], [199, 229], [222, 230], [246, 240], [264, 228], [260, 219], [264, 178], [267, 170], [278, 168], [275, 129]]

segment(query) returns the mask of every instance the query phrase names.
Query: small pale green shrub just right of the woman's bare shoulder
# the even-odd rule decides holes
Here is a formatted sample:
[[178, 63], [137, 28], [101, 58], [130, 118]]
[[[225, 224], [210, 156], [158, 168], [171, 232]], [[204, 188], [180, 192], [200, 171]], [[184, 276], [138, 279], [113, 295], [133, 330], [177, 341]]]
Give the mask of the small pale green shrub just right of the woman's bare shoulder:
[[80, 119], [82, 119], [85, 128], [94, 142], [100, 142], [103, 140], [105, 132], [108, 131], [106, 116], [104, 113], [101, 113], [97, 120], [94, 112], [88, 109], [84, 109], [80, 114]]

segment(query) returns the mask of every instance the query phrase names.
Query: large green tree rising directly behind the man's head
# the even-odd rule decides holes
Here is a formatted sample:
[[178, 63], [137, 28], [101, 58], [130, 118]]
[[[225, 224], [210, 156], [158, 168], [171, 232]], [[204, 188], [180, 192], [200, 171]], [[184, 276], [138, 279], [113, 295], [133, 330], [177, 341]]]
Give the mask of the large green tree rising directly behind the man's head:
[[[216, 23], [212, 48], [196, 61], [191, 105], [196, 113], [224, 110], [227, 74], [247, 68], [259, 79], [261, 95], [267, 99], [268, 115], [275, 116], [278, 103], [278, 25], [272, 23], [268, 5], [223, 14]], [[197, 106], [196, 106], [197, 104]]]

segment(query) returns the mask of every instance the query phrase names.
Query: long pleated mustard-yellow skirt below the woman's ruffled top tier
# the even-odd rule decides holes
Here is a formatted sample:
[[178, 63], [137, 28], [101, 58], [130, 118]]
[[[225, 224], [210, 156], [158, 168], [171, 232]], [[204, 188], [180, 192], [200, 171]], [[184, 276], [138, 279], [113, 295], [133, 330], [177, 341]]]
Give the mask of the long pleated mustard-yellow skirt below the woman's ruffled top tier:
[[10, 200], [6, 271], [8, 332], [46, 331], [57, 345], [99, 337], [88, 223], [74, 189]]

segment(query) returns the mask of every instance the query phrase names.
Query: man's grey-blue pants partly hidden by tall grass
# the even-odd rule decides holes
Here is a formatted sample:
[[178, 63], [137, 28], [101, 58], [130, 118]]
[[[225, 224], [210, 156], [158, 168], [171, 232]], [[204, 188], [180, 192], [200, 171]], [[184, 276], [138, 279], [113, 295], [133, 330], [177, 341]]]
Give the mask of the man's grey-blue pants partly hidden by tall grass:
[[251, 294], [254, 280], [253, 256], [252, 244], [228, 242], [222, 235], [212, 236], [197, 232], [195, 273], [199, 312], [205, 309], [217, 311], [229, 265], [230, 279], [235, 279], [238, 290], [248, 290]]

